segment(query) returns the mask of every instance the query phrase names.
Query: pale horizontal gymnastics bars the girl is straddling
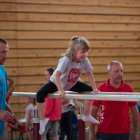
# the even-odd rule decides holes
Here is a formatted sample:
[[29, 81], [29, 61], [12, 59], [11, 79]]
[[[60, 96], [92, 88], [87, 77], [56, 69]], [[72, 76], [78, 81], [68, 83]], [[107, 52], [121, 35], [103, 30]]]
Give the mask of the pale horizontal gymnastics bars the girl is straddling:
[[[93, 92], [78, 92], [67, 91], [65, 99], [79, 99], [79, 100], [106, 100], [106, 101], [140, 101], [139, 92], [100, 92], [94, 94]], [[36, 98], [36, 93], [32, 92], [13, 92], [14, 97], [31, 97]], [[58, 92], [48, 94], [47, 98], [59, 98]]]

